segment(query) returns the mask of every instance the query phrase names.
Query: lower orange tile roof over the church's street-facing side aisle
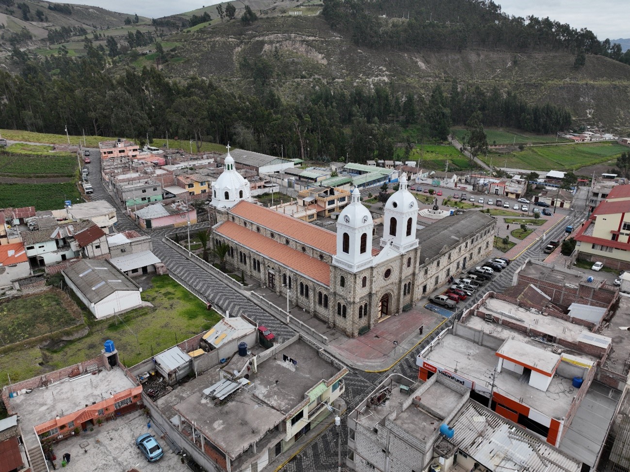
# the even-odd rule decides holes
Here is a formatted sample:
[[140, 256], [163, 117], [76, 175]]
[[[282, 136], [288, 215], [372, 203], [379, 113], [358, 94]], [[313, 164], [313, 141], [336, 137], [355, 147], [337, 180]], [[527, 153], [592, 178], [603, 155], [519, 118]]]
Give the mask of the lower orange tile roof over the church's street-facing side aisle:
[[[291, 219], [299, 221], [294, 218]], [[295, 272], [302, 273], [306, 277], [317, 280], [322, 284], [330, 285], [330, 266], [302, 251], [289, 248], [282, 243], [278, 243], [275, 239], [267, 238], [232, 221], [223, 222], [216, 229], [216, 232], [241, 246], [295, 270]]]

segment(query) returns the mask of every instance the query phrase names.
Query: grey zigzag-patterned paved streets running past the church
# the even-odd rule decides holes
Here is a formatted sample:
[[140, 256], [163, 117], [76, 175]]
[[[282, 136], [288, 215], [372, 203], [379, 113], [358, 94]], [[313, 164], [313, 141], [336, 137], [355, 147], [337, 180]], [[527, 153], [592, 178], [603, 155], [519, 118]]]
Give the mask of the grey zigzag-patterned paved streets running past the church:
[[[98, 150], [95, 149], [95, 155], [98, 156]], [[125, 231], [127, 229], [135, 229], [141, 231], [139, 227], [130, 219], [129, 216], [116, 202], [110, 193], [103, 187], [100, 179], [100, 159], [94, 159], [90, 164], [92, 185], [94, 187], [93, 199], [107, 200], [117, 209], [118, 222], [116, 225], [117, 231]], [[577, 214], [572, 214], [571, 222], [577, 221]], [[210, 302], [215, 305], [219, 305], [222, 309], [229, 310], [233, 315], [245, 314], [256, 321], [265, 324], [272, 331], [274, 331], [280, 337], [291, 337], [295, 335], [295, 331], [292, 327], [280, 322], [277, 318], [271, 314], [266, 313], [263, 309], [253, 304], [251, 300], [241, 294], [241, 292], [235, 291], [229, 285], [224, 284], [222, 280], [214, 275], [199, 270], [198, 266], [192, 261], [188, 260], [180, 255], [177, 251], [173, 250], [170, 246], [163, 242], [163, 237], [173, 229], [170, 230], [158, 230], [147, 232], [152, 238], [154, 253], [166, 264], [171, 274], [175, 275], [178, 279], [183, 281], [186, 285], [189, 285], [195, 291], [203, 294]], [[560, 234], [564, 232], [564, 226], [559, 224], [552, 231], [547, 234], [550, 239], [557, 239]], [[518, 258], [525, 260], [525, 258], [537, 258], [540, 253], [540, 245], [534, 244], [522, 253]], [[486, 285], [488, 291], [503, 291], [510, 285], [512, 285], [512, 279], [515, 271], [517, 270], [517, 263], [512, 263], [508, 268], [503, 270], [499, 275], [493, 279], [490, 284]], [[478, 294], [475, 297], [471, 297], [467, 300], [455, 314], [459, 316], [467, 307], [474, 304], [481, 297]], [[447, 326], [445, 326], [446, 328]], [[435, 333], [435, 337], [438, 333]], [[396, 372], [403, 374], [411, 379], [418, 377], [418, 367], [416, 367], [416, 355], [432, 341], [432, 338], [427, 338], [418, 346], [415, 350], [411, 351], [408, 355], [403, 357], [396, 366], [392, 368], [390, 372], [377, 372], [369, 373], [362, 372], [357, 369], [350, 368], [350, 372], [345, 376], [345, 392], [343, 394], [343, 400], [347, 403], [347, 413], [342, 418], [341, 423], [341, 459], [342, 464], [344, 458], [347, 456], [347, 414], [352, 412], [353, 408], [360, 402], [367, 394], [375, 388], [375, 386], [384, 379], [385, 376], [390, 373]], [[308, 435], [306, 440], [308, 440]], [[302, 443], [303, 444], [303, 443]], [[289, 463], [287, 463], [282, 471], [286, 472], [335, 472], [337, 470], [337, 444], [338, 444], [338, 432], [335, 427], [329, 427], [322, 434], [320, 434], [315, 440], [312, 440], [304, 449], [299, 450], [301, 444], [297, 444], [295, 452], [299, 453], [295, 455]], [[280, 465], [280, 464], [277, 464]]]

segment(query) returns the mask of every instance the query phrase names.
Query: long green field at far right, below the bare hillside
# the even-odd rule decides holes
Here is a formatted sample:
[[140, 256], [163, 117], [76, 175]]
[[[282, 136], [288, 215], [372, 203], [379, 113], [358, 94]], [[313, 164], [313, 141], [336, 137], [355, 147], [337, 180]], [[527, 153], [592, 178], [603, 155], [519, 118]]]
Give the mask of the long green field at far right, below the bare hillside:
[[531, 170], [570, 170], [614, 160], [627, 151], [616, 142], [563, 144], [562, 146], [531, 146], [515, 153], [488, 153], [484, 162], [495, 167]]

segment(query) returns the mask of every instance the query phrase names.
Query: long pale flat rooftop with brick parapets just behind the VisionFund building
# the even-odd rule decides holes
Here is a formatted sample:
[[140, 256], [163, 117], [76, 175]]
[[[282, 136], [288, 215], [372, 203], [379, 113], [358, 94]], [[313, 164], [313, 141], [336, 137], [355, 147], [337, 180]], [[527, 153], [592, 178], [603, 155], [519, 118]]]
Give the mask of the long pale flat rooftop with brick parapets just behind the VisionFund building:
[[[510, 323], [517, 323], [518, 325], [525, 326], [525, 328], [542, 331], [558, 339], [564, 339], [574, 343], [578, 342], [578, 337], [582, 331], [588, 331], [584, 326], [574, 325], [573, 323], [564, 321], [564, 319], [554, 318], [554, 316], [545, 316], [542, 313], [519, 307], [496, 298], [488, 298], [481, 310], [486, 313], [495, 314], [498, 317], [503, 316], [507, 321], [510, 321]], [[508, 314], [509, 316], [504, 316], [504, 314]], [[486, 323], [483, 318], [479, 318], [478, 316], [469, 316], [466, 319], [466, 325], [477, 330], [483, 330], [486, 333], [493, 330], [495, 336], [503, 337], [497, 333], [497, 327], [501, 328], [501, 325]], [[503, 332], [505, 331], [504, 328]], [[514, 332], [509, 329], [507, 331], [510, 334]], [[507, 337], [508, 335], [505, 336], [505, 338]]]

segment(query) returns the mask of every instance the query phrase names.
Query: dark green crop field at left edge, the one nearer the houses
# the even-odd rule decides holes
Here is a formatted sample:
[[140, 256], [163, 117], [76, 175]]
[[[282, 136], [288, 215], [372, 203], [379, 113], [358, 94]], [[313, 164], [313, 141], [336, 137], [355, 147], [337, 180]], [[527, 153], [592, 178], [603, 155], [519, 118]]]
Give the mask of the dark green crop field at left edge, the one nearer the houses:
[[0, 183], [0, 202], [4, 207], [57, 210], [64, 207], [64, 200], [83, 203], [75, 183]]

